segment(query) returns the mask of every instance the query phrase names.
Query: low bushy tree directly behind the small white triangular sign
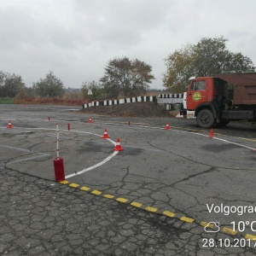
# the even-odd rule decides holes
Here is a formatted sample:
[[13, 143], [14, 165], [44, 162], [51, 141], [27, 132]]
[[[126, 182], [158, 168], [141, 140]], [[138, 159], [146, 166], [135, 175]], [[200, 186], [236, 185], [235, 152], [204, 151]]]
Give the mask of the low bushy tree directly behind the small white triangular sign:
[[[97, 84], [96, 81], [83, 82], [81, 85], [83, 98], [91, 98], [93, 100], [102, 99], [105, 97], [104, 89], [101, 84]], [[89, 90], [92, 92], [92, 96], [88, 95]]]

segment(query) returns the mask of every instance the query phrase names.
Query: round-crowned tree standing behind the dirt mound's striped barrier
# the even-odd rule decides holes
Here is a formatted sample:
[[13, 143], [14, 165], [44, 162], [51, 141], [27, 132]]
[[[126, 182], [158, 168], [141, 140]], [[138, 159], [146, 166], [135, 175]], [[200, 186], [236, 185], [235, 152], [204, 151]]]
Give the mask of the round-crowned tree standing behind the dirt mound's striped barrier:
[[105, 75], [100, 81], [108, 98], [138, 96], [148, 89], [148, 84], [154, 79], [151, 72], [152, 67], [143, 61], [115, 58], [108, 61]]

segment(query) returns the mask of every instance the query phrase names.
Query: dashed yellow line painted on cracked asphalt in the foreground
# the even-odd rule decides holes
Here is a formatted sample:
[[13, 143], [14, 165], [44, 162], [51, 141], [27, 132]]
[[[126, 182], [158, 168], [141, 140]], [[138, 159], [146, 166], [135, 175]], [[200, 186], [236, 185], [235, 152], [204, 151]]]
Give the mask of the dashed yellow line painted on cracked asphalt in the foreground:
[[[195, 221], [195, 218], [190, 218], [190, 217], [187, 217], [187, 216], [183, 216], [182, 214], [177, 213], [177, 212], [162, 211], [162, 210], [159, 210], [156, 207], [145, 206], [140, 202], [131, 201], [131, 200], [126, 199], [124, 197], [117, 197], [115, 195], [105, 194], [104, 192], [102, 192], [100, 190], [91, 189], [91, 188], [86, 187], [86, 186], [80, 186], [77, 183], [69, 183], [67, 180], [61, 181], [60, 183], [63, 184], [63, 185], [68, 185], [69, 187], [74, 188], [74, 189], [80, 189], [82, 191], [86, 191], [86, 192], [88, 192], [90, 194], [93, 194], [93, 195], [99, 195], [99, 196], [102, 196], [102, 197], [107, 198], [107, 199], [112, 199], [112, 200], [115, 200], [115, 201], [119, 201], [120, 203], [125, 203], [127, 205], [130, 205], [131, 207], [137, 207], [139, 209], [142, 209], [142, 210], [145, 210], [145, 211], [148, 211], [148, 212], [153, 212], [153, 213], [157, 213], [157, 214], [160, 214], [160, 215], [164, 215], [168, 218], [176, 218], [177, 220], [182, 221], [183, 223], [186, 223], [186, 224], [199, 224], [203, 228], [206, 227], [206, 226], [210, 229], [214, 228], [214, 224], [212, 224], [212, 223], [209, 223], [207, 221], [198, 222], [198, 221]], [[230, 235], [230, 236], [239, 236], [239, 235], [241, 235], [238, 232], [238, 230], [232, 230], [228, 227], [223, 227], [219, 231], [221, 231], [222, 233], [224, 233], [226, 235]], [[250, 234], [244, 234], [244, 235], [241, 235], [241, 236], [244, 236], [244, 238], [256, 242], [256, 236], [253, 236], [253, 235], [250, 235]]]

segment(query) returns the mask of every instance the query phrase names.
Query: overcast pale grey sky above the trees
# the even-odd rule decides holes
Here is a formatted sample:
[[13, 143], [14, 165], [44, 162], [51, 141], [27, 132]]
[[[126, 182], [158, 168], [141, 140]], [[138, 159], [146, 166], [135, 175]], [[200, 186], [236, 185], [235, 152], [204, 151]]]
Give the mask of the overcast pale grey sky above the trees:
[[150, 87], [164, 89], [164, 59], [203, 37], [223, 35], [256, 65], [255, 12], [255, 0], [0, 0], [0, 70], [27, 86], [53, 71], [80, 88], [127, 56], [150, 65]]

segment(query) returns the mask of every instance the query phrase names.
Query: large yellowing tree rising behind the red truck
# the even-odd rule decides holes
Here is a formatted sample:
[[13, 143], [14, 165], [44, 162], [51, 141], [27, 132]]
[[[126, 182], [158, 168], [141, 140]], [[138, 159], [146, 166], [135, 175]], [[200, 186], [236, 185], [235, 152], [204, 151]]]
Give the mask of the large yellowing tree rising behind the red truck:
[[226, 48], [228, 39], [201, 38], [197, 44], [187, 44], [175, 50], [166, 60], [163, 83], [173, 92], [186, 90], [191, 76], [212, 76], [217, 73], [255, 72], [253, 61], [241, 53]]

